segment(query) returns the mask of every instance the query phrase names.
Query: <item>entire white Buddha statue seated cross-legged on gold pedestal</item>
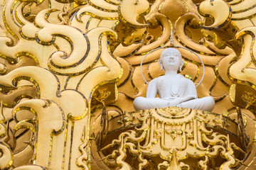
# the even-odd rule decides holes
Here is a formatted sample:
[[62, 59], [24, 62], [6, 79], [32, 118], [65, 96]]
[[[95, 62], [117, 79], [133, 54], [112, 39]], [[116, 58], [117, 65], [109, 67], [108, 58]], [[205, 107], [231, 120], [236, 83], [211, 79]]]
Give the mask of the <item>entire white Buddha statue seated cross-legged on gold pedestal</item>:
[[[201, 111], [213, 111], [215, 101], [212, 97], [198, 98], [196, 86], [190, 79], [178, 74], [183, 66], [181, 53], [175, 48], [167, 48], [161, 52], [159, 64], [165, 75], [149, 82], [146, 98], [137, 97], [134, 108], [144, 110], [149, 108], [167, 108], [178, 106]], [[156, 94], [159, 98], [156, 98]]]

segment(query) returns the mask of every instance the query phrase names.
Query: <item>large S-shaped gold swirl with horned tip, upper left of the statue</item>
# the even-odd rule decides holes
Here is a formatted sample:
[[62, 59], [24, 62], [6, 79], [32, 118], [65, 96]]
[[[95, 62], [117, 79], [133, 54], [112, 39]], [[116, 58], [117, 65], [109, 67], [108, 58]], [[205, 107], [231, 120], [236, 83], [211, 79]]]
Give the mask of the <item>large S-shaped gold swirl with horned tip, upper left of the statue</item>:
[[[53, 45], [56, 37], [63, 38], [70, 45], [70, 52], [65, 52], [61, 48], [50, 55], [48, 67], [55, 74], [60, 75], [79, 75], [90, 71], [100, 59], [102, 51], [102, 37], [110, 35], [114, 38], [115, 33], [108, 28], [97, 28], [89, 31], [86, 35], [80, 30], [70, 27], [55, 25], [48, 23], [45, 16], [55, 10], [47, 9], [41, 11], [36, 16], [35, 23], [42, 29], [36, 33], [36, 41], [41, 45]], [[98, 41], [93, 40], [99, 38]], [[58, 43], [55, 43], [58, 45]], [[90, 50], [90, 47], [95, 47], [95, 50]], [[70, 54], [68, 54], [70, 53]]]

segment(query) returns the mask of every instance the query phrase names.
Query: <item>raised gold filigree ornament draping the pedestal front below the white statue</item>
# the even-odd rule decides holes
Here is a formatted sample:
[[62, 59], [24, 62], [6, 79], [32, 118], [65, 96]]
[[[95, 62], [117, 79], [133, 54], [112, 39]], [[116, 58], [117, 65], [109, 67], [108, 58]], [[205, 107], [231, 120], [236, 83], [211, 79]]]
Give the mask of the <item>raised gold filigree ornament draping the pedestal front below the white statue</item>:
[[[182, 112], [184, 109], [170, 107], [161, 110], [166, 112], [165, 115], [172, 115], [172, 112], [177, 110]], [[135, 121], [134, 117], [136, 115], [137, 120], [142, 125], [134, 130], [122, 132], [117, 140], [113, 140], [110, 145], [102, 149], [117, 148], [112, 151], [112, 154], [105, 157], [106, 162], [110, 161], [111, 158], [116, 160], [118, 168], [136, 169], [136, 165], [126, 162], [125, 158], [127, 154], [137, 156], [142, 154], [142, 156], [151, 160], [159, 158], [168, 160], [168, 162], [159, 164], [159, 169], [181, 169], [181, 165], [184, 168], [188, 167], [186, 164], [181, 164], [181, 161], [189, 159], [189, 157], [195, 157], [196, 159], [204, 158], [204, 161], [199, 161], [198, 166], [207, 169], [209, 158], [220, 156], [226, 160], [220, 166], [220, 169], [228, 170], [236, 166], [237, 161], [233, 154], [233, 147], [235, 149], [238, 149], [238, 147], [230, 142], [228, 135], [220, 135], [218, 132], [206, 129], [206, 126], [210, 125], [218, 127], [219, 125], [215, 124], [217, 119], [223, 119], [222, 122], [230, 122], [230, 120], [222, 115], [192, 111], [191, 115], [193, 116], [185, 117], [186, 121], [178, 121], [184, 120], [184, 118], [180, 118], [178, 114], [175, 114], [172, 118], [163, 116], [160, 118], [156, 111], [150, 109], [149, 111], [129, 113], [130, 122]], [[168, 111], [170, 113], [167, 113]], [[176, 123], [166, 122], [173, 121], [175, 116], [177, 117]], [[221, 126], [221, 128], [226, 127]], [[203, 143], [206, 145], [203, 145]]]

